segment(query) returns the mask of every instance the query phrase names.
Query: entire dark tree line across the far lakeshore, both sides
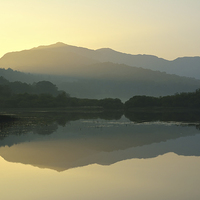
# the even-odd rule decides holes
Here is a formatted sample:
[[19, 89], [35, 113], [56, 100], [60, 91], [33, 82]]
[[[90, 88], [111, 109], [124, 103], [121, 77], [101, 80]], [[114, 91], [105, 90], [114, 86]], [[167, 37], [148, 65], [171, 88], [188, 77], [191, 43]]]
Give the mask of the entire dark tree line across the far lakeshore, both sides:
[[80, 99], [70, 97], [49, 81], [33, 84], [20, 81], [9, 82], [0, 77], [1, 108], [56, 108], [56, 107], [101, 107], [104, 109], [134, 110], [135, 108], [200, 108], [200, 89], [195, 92], [176, 93], [170, 96], [133, 96], [125, 103], [118, 98]]

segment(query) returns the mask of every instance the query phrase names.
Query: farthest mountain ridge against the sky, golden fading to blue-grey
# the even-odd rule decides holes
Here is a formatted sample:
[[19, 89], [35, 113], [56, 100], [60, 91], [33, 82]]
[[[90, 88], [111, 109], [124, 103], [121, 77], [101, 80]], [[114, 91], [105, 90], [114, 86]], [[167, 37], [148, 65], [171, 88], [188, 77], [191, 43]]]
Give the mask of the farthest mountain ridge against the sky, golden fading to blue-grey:
[[7, 53], [0, 59], [0, 67], [31, 73], [69, 75], [78, 72], [83, 66], [99, 62], [125, 64], [200, 79], [200, 57], [168, 61], [151, 55], [131, 55], [109, 48], [91, 50], [63, 43]]

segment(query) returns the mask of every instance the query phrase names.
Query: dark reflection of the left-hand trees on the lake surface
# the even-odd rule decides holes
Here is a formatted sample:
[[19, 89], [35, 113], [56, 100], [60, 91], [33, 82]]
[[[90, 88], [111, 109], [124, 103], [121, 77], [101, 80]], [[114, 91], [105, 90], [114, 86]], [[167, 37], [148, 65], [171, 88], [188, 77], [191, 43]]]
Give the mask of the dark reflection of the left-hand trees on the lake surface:
[[[60, 126], [66, 126], [71, 121], [80, 119], [119, 120], [121, 112], [101, 113], [62, 113], [62, 112], [20, 112], [19, 120], [13, 118], [2, 120], [0, 117], [0, 139], [8, 135], [22, 135], [30, 131], [36, 134], [48, 135], [55, 132]], [[0, 115], [1, 116], [1, 115]], [[17, 116], [17, 115], [16, 115]], [[9, 117], [9, 116], [8, 116]], [[7, 118], [6, 118], [7, 119]]]

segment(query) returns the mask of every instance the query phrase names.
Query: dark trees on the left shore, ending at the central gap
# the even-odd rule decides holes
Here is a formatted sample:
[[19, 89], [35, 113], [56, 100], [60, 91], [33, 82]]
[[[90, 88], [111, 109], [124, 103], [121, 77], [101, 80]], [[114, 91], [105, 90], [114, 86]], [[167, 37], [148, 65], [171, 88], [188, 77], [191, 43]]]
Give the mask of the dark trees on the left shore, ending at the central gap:
[[34, 84], [9, 82], [0, 77], [1, 108], [54, 108], [54, 107], [101, 107], [104, 109], [123, 109], [120, 99], [105, 98], [79, 99], [58, 91], [49, 81]]

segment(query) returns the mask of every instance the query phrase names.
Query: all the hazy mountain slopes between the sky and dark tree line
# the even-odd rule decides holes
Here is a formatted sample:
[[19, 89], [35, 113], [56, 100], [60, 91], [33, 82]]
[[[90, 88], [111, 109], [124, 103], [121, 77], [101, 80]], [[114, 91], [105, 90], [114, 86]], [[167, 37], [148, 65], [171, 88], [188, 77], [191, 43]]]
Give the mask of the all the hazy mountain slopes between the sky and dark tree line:
[[[169, 63], [177, 63], [178, 69], [182, 60], [184, 66], [193, 63], [191, 69], [198, 63], [198, 58], [167, 61], [150, 55], [129, 55], [112, 49], [90, 50], [56, 43], [5, 54], [0, 59], [0, 68], [26, 72], [24, 80], [27, 80], [27, 73], [35, 73], [37, 75], [33, 75], [31, 81], [38, 82], [38, 79], [43, 78], [56, 84], [59, 90], [64, 90], [71, 96], [127, 100], [134, 95], [163, 96], [176, 92], [193, 92], [198, 89], [200, 80], [144, 68], [155, 66], [154, 68], [158, 69], [164, 68]], [[1, 69], [0, 73], [1, 71], [8, 72], [11, 69]], [[182, 72], [184, 70], [180, 70], [180, 73]], [[16, 74], [16, 71], [13, 73]], [[197, 72], [196, 74], [198, 75]], [[10, 80], [9, 76], [5, 78]]]

